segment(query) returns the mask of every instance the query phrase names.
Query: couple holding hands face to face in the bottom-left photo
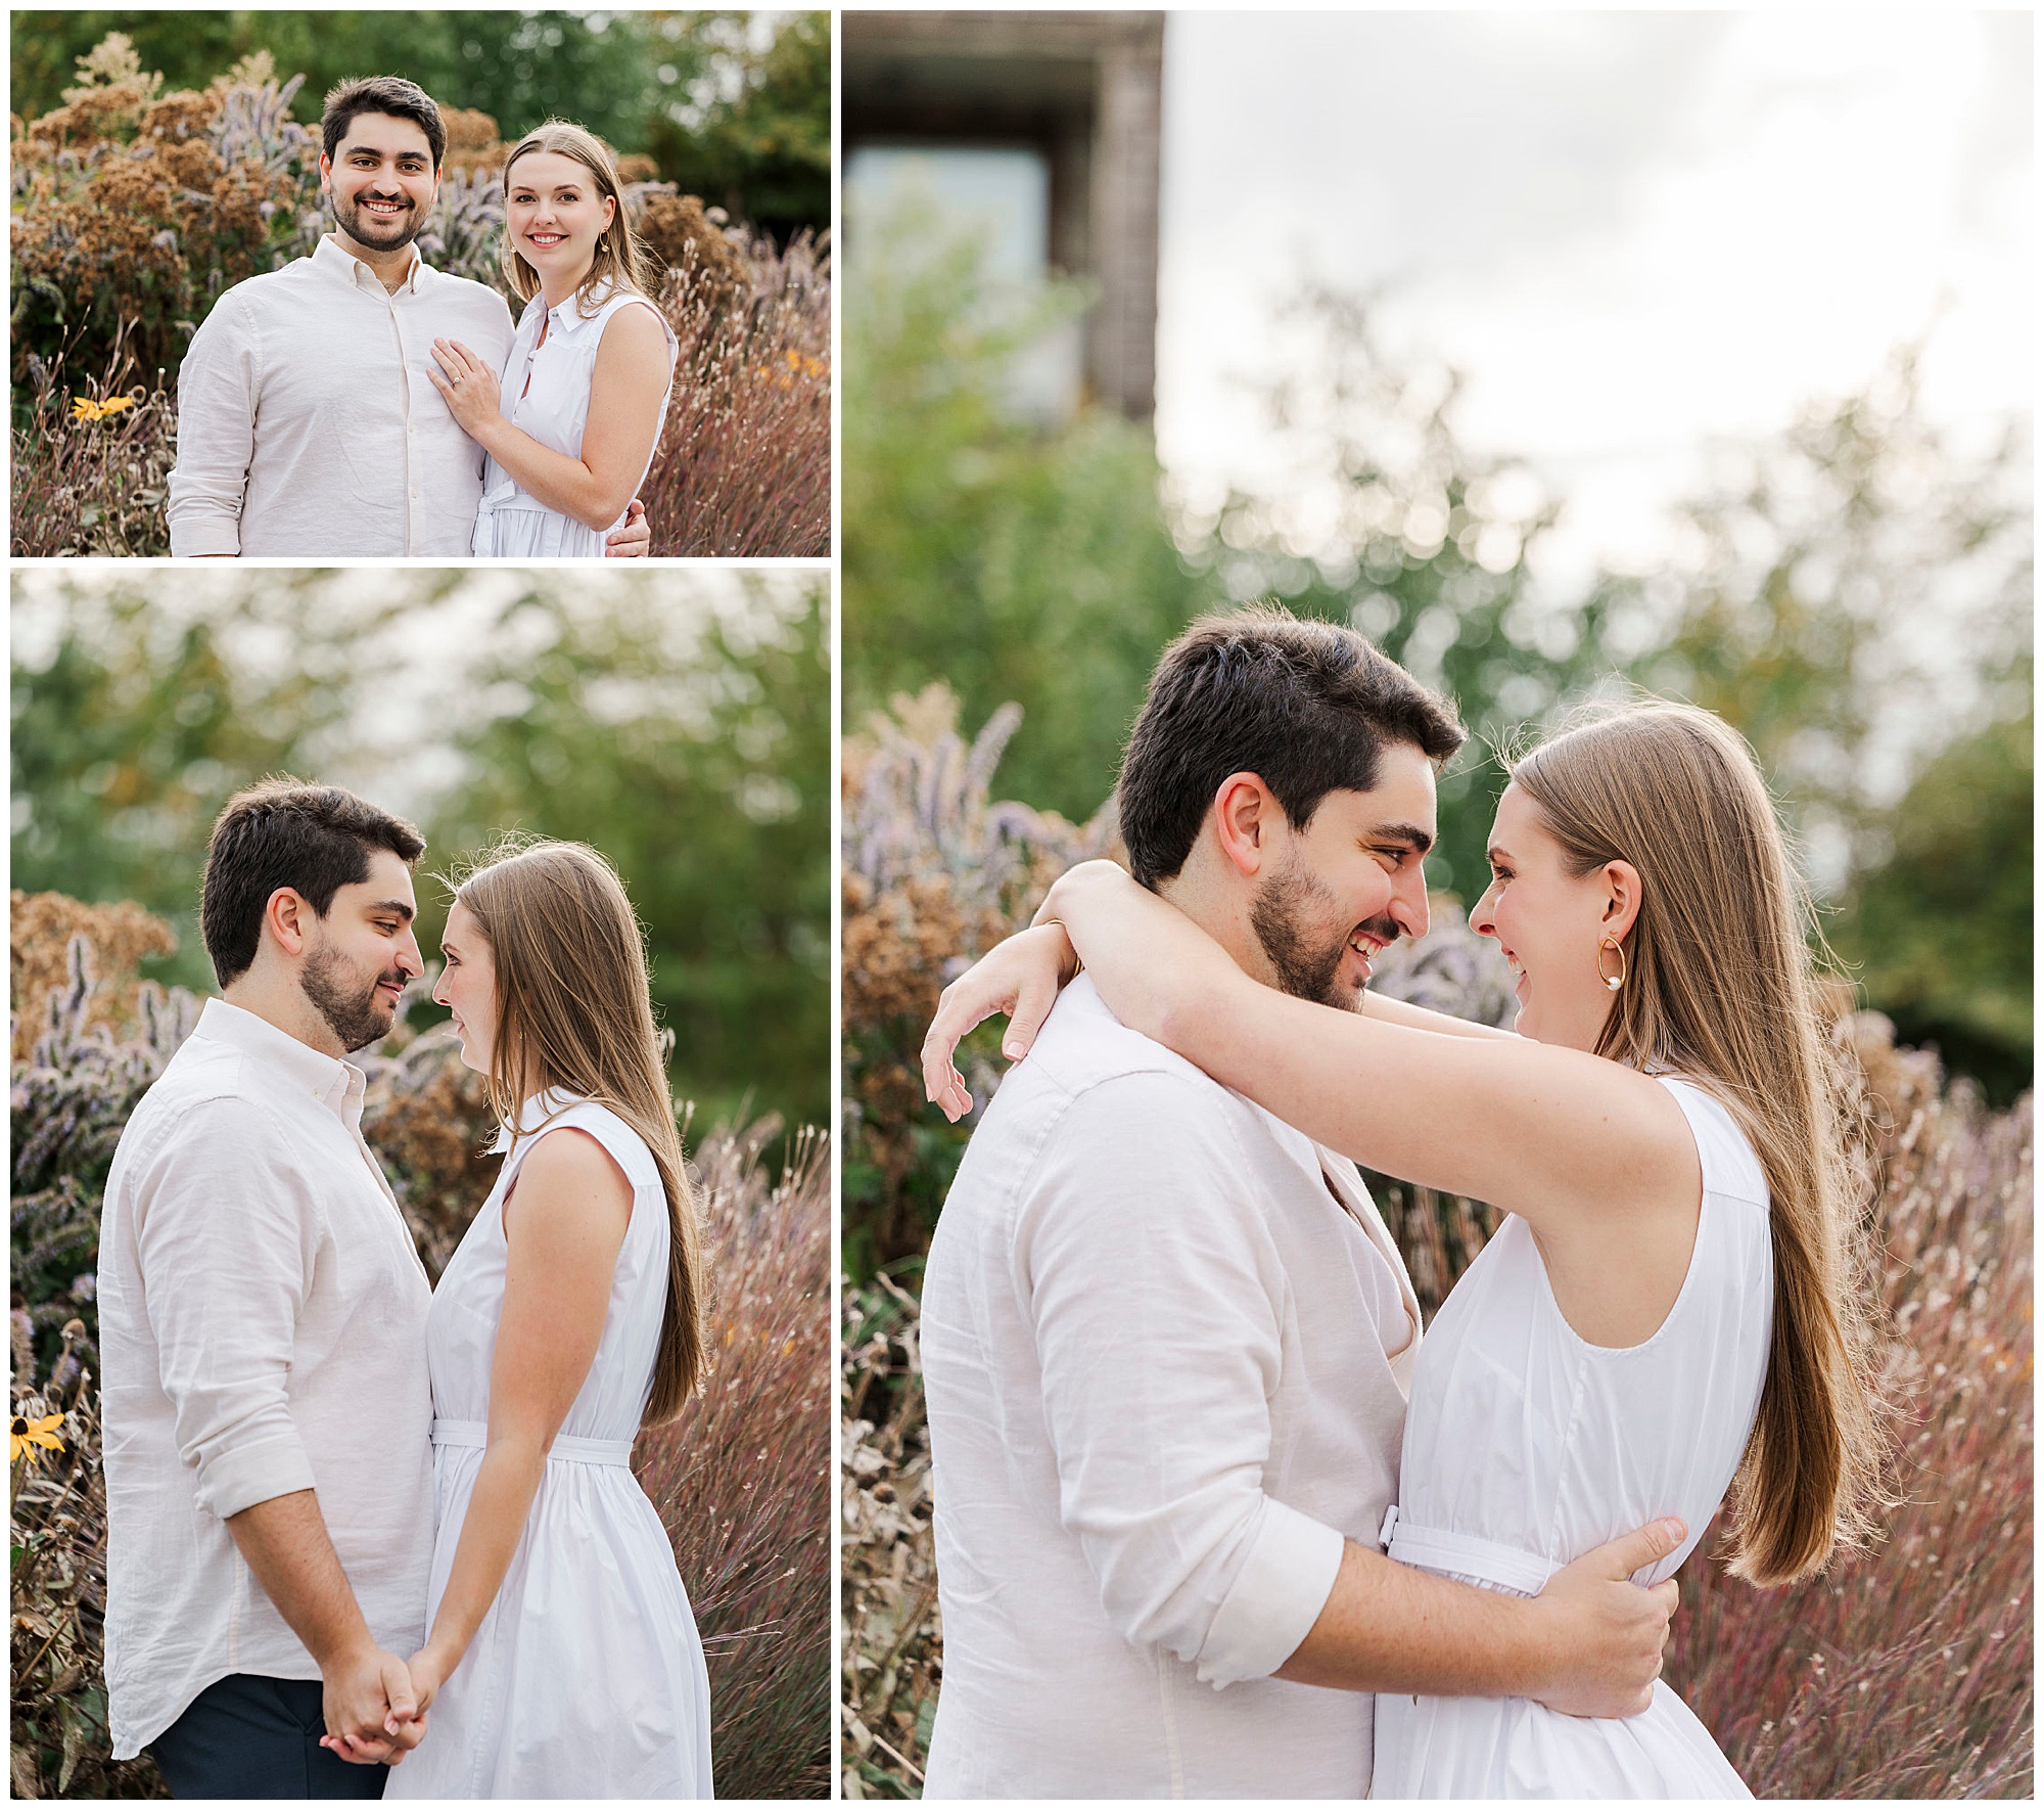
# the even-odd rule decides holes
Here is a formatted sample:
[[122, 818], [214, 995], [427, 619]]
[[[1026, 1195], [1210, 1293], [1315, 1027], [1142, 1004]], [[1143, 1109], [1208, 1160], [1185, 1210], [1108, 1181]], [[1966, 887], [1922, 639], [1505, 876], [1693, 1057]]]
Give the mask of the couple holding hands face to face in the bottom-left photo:
[[458, 879], [433, 998], [503, 1166], [433, 1286], [347, 1059], [421, 974], [423, 849], [286, 779], [215, 824], [221, 996], [100, 1231], [114, 1755], [180, 1798], [707, 1798], [703, 1646], [632, 1475], [707, 1374], [640, 926], [578, 843]]

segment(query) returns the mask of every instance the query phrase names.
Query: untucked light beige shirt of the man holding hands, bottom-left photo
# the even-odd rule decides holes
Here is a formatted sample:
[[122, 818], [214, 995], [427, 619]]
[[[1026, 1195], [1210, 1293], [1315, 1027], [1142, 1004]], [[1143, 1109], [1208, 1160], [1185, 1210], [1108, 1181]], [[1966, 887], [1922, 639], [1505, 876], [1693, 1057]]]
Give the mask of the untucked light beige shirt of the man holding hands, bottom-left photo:
[[362, 1070], [208, 1000], [100, 1219], [114, 1755], [229, 1673], [317, 1679], [227, 1518], [317, 1491], [374, 1640], [425, 1640], [431, 1284], [362, 1141]]

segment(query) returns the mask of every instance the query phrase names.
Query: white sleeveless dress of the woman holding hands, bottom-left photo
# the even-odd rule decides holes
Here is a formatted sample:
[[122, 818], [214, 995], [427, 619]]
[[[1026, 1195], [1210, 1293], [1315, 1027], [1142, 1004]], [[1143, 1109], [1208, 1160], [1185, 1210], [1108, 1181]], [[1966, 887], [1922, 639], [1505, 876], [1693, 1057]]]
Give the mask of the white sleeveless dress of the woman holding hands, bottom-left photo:
[[[386, 1798], [709, 1798], [709, 1673], [660, 1515], [632, 1475], [666, 1313], [668, 1221], [644, 1139], [607, 1106], [552, 1092], [525, 1127], [595, 1137], [632, 1182], [632, 1223], [595, 1362], [425, 1740]], [[497, 1141], [509, 1145], [509, 1133]], [[503, 1203], [538, 1137], [521, 1137], [433, 1291], [433, 1573], [439, 1610], [489, 1430], [505, 1299]]]

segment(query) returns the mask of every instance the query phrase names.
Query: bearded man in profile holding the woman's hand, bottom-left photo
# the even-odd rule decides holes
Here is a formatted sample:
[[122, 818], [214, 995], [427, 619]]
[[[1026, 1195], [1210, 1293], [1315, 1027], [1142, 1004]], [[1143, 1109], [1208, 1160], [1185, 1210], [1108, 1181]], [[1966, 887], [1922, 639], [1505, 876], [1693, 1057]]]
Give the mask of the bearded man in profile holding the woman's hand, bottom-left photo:
[[106, 1180], [112, 1743], [180, 1798], [378, 1798], [425, 1732], [399, 1655], [433, 1554], [431, 1284], [345, 1061], [421, 971], [423, 849], [333, 785], [229, 800], [200, 892], [223, 996]]

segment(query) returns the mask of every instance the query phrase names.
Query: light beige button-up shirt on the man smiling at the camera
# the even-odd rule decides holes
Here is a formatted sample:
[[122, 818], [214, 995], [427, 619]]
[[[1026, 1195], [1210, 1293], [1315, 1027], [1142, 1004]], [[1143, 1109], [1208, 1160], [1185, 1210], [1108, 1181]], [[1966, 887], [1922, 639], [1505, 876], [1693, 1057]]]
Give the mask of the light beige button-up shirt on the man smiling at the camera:
[[491, 370], [511, 309], [413, 254], [397, 292], [331, 237], [237, 282], [178, 372], [170, 550], [282, 558], [464, 558], [482, 448], [433, 389], [433, 340]]

